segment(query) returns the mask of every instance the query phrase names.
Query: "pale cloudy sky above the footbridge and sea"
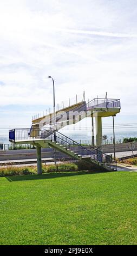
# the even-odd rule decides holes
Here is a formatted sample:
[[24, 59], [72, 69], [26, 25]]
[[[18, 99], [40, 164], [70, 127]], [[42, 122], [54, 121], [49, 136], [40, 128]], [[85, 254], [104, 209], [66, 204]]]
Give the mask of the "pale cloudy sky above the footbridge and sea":
[[116, 122], [135, 123], [136, 67], [136, 0], [0, 0], [0, 126], [29, 127], [53, 105], [48, 76], [56, 104], [107, 92]]

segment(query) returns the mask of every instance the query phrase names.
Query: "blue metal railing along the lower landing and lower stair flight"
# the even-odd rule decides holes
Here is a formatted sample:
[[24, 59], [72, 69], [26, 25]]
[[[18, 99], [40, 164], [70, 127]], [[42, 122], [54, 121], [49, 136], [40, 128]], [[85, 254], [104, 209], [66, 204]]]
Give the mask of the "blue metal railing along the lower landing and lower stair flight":
[[99, 149], [95, 148], [86, 148], [81, 144], [77, 143], [73, 139], [63, 135], [62, 133], [56, 131], [56, 136], [54, 135], [54, 131], [45, 130], [45, 129], [34, 129], [30, 136], [30, 129], [14, 129], [9, 131], [9, 141], [16, 143], [16, 141], [23, 141], [26, 143], [31, 139], [49, 139], [52, 142], [58, 143], [59, 145], [63, 145], [66, 149], [73, 151], [77, 155], [90, 157], [92, 160], [99, 161], [103, 163], [105, 167], [113, 167], [115, 170], [117, 169], [116, 161], [105, 153], [102, 153]]

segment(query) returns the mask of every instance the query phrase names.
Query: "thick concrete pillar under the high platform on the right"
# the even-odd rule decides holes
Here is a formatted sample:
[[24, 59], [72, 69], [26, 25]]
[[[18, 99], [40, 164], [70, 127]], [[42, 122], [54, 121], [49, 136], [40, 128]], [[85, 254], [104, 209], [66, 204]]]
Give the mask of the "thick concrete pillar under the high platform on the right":
[[96, 117], [96, 145], [102, 148], [102, 119], [101, 117]]

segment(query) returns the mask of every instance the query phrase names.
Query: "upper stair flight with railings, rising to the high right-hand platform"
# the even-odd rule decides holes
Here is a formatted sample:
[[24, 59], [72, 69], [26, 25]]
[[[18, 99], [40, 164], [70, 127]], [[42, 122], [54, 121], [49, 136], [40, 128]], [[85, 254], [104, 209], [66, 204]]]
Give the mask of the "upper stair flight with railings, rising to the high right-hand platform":
[[[30, 129], [31, 132], [38, 127], [45, 127], [45, 129], [54, 129], [54, 124], [56, 126], [56, 131], [60, 130], [66, 125], [76, 124], [81, 121], [83, 118], [92, 117], [94, 111], [102, 111], [106, 114], [109, 113], [110, 109], [120, 109], [120, 100], [119, 99], [99, 99], [95, 98], [94, 100], [86, 103], [85, 101], [79, 102], [78, 105], [70, 106], [70, 108], [64, 108], [60, 111], [56, 111], [56, 117], [54, 114], [45, 115], [43, 118], [38, 118], [32, 121], [32, 126]], [[107, 116], [107, 115], [106, 115]], [[40, 125], [40, 123], [42, 123]]]

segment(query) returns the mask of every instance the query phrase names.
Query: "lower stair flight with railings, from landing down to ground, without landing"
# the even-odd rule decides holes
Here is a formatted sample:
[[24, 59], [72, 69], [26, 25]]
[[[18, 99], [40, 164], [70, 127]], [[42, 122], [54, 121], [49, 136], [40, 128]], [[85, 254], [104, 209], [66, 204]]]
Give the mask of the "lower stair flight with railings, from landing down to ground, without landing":
[[107, 170], [117, 170], [116, 161], [111, 156], [102, 153], [99, 149], [83, 147], [58, 131], [54, 135], [52, 132], [45, 130], [42, 136], [51, 141], [49, 142], [50, 147], [60, 150], [74, 159], [97, 164]]

